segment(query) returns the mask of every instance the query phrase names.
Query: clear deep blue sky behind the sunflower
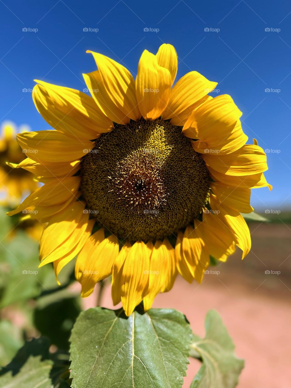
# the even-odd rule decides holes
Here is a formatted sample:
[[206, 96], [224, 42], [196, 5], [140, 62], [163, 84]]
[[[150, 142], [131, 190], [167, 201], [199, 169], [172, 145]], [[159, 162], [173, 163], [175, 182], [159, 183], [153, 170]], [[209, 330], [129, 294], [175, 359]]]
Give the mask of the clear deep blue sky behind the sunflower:
[[177, 78], [196, 70], [217, 81], [219, 93], [230, 94], [243, 112], [249, 142], [256, 137], [263, 149], [275, 150], [265, 174], [274, 189], [253, 190], [253, 206], [291, 203], [290, 1], [0, 0], [0, 19], [2, 122], [49, 129], [33, 105], [33, 79], [83, 90], [82, 73], [95, 70], [87, 49], [135, 75], [144, 49], [155, 53], [162, 42], [171, 43], [179, 57]]

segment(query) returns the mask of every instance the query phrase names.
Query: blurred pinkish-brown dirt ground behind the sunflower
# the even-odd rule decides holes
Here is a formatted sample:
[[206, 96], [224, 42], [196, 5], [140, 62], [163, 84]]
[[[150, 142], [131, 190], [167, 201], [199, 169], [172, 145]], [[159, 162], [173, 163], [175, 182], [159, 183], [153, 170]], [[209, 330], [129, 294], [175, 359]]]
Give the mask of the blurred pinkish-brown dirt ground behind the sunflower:
[[[206, 312], [216, 309], [237, 356], [245, 359], [238, 387], [290, 388], [291, 224], [252, 223], [250, 230], [252, 249], [244, 260], [237, 249], [227, 263], [213, 268], [218, 275], [205, 275], [200, 285], [178, 277], [170, 292], [157, 296], [153, 307], [183, 312], [200, 336]], [[95, 305], [96, 293], [84, 300], [86, 308]], [[106, 285], [102, 306], [107, 308], [113, 308], [110, 293]], [[191, 360], [184, 388], [189, 388], [199, 366]]]

